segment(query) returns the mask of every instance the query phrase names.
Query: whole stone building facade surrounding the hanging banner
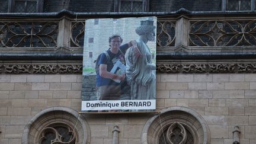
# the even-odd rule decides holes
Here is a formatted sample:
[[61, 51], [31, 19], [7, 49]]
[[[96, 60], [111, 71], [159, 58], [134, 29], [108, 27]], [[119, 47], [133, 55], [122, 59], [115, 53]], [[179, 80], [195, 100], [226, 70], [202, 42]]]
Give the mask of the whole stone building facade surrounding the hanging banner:
[[[255, 1], [35, 2], [0, 0], [1, 144], [256, 143]], [[142, 16], [158, 17], [156, 111], [79, 113], [85, 19]]]

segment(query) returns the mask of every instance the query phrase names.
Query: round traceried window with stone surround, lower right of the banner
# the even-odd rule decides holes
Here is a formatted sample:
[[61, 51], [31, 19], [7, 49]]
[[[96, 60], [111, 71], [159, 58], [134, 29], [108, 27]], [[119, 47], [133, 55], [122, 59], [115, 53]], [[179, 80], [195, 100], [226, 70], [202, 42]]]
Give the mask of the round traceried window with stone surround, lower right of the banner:
[[187, 107], [169, 107], [149, 119], [142, 130], [145, 144], [207, 144], [210, 130], [203, 117]]

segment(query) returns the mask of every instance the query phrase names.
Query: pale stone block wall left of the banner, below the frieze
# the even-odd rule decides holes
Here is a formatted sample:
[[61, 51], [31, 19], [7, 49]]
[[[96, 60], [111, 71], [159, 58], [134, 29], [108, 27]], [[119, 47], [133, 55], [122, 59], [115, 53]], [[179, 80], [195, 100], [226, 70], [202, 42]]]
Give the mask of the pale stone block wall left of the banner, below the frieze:
[[81, 75], [0, 75], [0, 143], [21, 143], [25, 124], [41, 110], [81, 109]]

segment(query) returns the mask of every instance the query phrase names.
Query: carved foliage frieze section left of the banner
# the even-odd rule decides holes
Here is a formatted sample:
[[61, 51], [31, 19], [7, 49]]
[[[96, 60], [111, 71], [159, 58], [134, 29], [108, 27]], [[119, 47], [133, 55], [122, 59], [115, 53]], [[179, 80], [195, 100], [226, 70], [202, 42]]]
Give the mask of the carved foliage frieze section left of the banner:
[[82, 63], [4, 63], [0, 73], [82, 73]]

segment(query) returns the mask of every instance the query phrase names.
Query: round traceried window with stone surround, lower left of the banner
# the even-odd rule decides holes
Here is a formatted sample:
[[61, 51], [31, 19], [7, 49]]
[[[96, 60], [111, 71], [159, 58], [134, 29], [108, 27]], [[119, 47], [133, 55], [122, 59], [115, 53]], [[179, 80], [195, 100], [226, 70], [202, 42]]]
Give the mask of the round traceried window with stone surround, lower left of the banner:
[[40, 111], [25, 126], [22, 137], [22, 144], [82, 144], [89, 141], [87, 122], [67, 107]]

